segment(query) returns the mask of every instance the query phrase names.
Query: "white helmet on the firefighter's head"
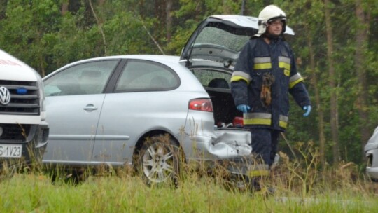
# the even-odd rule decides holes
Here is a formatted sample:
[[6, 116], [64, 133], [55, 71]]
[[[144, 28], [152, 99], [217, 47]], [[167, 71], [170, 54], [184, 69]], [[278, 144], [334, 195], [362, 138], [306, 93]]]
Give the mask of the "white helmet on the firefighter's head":
[[274, 20], [281, 20], [283, 22], [282, 33], [286, 30], [286, 13], [278, 6], [269, 5], [262, 9], [258, 14], [258, 34], [260, 36], [265, 33], [267, 24]]

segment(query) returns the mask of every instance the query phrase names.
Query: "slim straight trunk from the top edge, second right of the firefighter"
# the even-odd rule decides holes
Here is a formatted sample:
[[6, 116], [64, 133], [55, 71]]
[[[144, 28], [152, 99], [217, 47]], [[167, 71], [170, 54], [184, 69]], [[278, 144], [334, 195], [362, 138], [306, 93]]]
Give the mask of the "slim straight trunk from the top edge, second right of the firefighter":
[[339, 163], [339, 130], [338, 130], [338, 114], [337, 109], [337, 86], [336, 86], [336, 71], [335, 71], [335, 61], [333, 59], [333, 35], [332, 26], [330, 18], [330, 1], [325, 0], [325, 27], [327, 34], [327, 60], [328, 60], [328, 74], [329, 81], [328, 85], [330, 87], [330, 127], [333, 141], [333, 165]]

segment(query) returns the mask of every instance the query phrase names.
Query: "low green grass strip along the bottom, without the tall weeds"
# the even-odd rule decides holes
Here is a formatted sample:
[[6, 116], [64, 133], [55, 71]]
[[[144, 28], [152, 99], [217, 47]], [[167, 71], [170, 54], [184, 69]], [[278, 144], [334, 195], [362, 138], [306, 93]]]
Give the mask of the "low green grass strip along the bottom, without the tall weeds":
[[[288, 173], [290, 173], [290, 170]], [[276, 193], [227, 190], [217, 177], [190, 174], [178, 188], [146, 186], [132, 175], [90, 176], [51, 184], [43, 173], [16, 173], [0, 183], [1, 212], [376, 212], [370, 181], [302, 186], [276, 182]], [[269, 182], [269, 181], [268, 181]], [[331, 181], [333, 182], [333, 181]], [[348, 182], [348, 184], [346, 184]], [[272, 184], [272, 183], [269, 183]], [[339, 188], [336, 185], [339, 184]]]

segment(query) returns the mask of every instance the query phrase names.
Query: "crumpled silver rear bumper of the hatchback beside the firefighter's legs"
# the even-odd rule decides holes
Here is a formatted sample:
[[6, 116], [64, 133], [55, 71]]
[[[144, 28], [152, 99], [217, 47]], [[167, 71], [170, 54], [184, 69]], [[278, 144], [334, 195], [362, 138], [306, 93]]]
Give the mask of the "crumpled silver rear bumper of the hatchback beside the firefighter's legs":
[[204, 160], [213, 166], [221, 165], [231, 174], [248, 177], [269, 175], [269, 165], [258, 164], [252, 154], [251, 132], [236, 128], [218, 129], [214, 132], [215, 137], [190, 137], [195, 142], [195, 147], [184, 147], [188, 160]]

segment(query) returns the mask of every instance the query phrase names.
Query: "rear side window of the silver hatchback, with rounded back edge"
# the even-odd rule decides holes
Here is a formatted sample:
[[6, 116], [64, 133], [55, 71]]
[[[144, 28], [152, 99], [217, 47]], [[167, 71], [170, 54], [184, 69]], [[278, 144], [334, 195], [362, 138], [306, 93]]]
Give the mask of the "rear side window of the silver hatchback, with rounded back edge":
[[173, 90], [179, 77], [169, 67], [146, 60], [130, 60], [118, 79], [115, 92]]

